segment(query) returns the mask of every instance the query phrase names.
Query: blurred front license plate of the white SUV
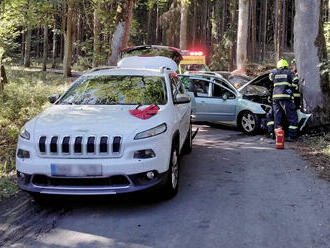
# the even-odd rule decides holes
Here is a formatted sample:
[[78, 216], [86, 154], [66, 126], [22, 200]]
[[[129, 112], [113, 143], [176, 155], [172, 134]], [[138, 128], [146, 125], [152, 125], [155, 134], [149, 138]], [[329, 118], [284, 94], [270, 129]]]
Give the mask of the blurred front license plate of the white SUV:
[[102, 176], [102, 165], [51, 164], [52, 176], [91, 177]]

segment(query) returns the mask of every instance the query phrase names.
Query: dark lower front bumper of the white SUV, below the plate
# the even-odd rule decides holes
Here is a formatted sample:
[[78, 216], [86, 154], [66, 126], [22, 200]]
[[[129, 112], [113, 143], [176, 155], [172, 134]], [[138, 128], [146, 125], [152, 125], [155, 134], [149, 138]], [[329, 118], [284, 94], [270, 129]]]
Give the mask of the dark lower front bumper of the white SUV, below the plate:
[[17, 171], [18, 186], [28, 192], [54, 195], [113, 195], [147, 190], [165, 183], [168, 172], [152, 171], [132, 175], [112, 175], [110, 177], [70, 178], [40, 174], [29, 175]]

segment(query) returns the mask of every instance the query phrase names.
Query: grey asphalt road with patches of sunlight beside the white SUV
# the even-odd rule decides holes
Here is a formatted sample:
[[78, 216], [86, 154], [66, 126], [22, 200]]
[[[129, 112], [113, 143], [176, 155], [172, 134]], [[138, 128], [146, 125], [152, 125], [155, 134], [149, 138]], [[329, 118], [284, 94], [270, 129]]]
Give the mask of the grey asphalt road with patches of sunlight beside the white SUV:
[[276, 150], [270, 142], [201, 126], [193, 153], [182, 159], [180, 190], [174, 199], [142, 194], [62, 202], [43, 215], [49, 228], [3, 244], [330, 247], [330, 184], [317, 178], [293, 150]]

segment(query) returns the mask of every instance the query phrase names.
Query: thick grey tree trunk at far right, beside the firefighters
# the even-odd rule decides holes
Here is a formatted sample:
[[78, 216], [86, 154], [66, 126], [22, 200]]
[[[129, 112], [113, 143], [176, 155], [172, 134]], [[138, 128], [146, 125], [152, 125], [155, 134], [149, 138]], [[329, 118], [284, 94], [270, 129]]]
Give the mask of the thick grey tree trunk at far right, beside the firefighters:
[[330, 95], [328, 75], [320, 77], [318, 66], [326, 57], [326, 48], [321, 0], [317, 0], [317, 4], [315, 1], [295, 1], [294, 51], [303, 93], [303, 107], [307, 112], [313, 113], [313, 124], [318, 125], [330, 122]]

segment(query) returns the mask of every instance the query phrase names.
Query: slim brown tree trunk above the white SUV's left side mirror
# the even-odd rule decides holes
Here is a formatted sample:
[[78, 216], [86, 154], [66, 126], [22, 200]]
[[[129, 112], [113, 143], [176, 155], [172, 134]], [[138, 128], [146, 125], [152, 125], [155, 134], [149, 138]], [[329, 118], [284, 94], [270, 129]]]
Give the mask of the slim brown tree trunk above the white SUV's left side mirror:
[[63, 58], [63, 76], [71, 77], [72, 60], [72, 15], [73, 3], [68, 2], [68, 11], [66, 17], [66, 33], [64, 34], [64, 58]]

